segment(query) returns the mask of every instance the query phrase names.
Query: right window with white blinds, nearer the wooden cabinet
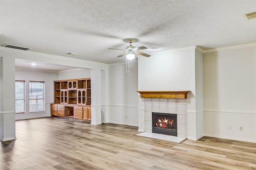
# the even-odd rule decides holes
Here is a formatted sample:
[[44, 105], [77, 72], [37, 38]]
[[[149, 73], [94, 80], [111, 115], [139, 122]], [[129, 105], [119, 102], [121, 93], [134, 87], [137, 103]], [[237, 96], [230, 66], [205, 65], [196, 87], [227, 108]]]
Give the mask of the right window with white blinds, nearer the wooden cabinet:
[[29, 112], [44, 112], [44, 82], [29, 82]]

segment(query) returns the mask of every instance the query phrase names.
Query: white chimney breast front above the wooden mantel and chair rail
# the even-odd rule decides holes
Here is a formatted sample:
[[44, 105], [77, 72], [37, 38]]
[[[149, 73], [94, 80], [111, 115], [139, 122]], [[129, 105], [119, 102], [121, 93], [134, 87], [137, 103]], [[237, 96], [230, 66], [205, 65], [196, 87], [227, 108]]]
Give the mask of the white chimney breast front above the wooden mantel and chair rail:
[[190, 90], [188, 110], [196, 110], [195, 85], [195, 46], [139, 58], [139, 91]]

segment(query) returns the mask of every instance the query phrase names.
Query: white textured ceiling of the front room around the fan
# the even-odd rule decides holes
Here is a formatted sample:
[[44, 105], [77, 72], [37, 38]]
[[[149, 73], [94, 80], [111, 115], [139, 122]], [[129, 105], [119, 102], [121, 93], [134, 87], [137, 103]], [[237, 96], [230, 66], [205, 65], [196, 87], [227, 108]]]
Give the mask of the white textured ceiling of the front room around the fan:
[[256, 19], [244, 16], [254, 11], [256, 0], [2, 0], [0, 46], [110, 64], [125, 61], [107, 48], [126, 38], [144, 53], [256, 42]]

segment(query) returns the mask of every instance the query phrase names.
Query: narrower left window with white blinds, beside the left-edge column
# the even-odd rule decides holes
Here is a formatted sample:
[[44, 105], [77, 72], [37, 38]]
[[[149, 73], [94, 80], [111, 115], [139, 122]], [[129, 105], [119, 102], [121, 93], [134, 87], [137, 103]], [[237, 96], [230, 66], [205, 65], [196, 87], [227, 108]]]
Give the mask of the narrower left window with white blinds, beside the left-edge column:
[[25, 113], [25, 81], [15, 81], [15, 113]]

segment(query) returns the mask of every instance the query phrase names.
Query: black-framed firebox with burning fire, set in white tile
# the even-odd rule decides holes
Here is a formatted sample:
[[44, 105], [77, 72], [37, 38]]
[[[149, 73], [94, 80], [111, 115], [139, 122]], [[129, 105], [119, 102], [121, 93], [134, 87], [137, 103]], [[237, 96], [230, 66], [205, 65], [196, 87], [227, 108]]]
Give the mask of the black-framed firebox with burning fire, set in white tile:
[[177, 114], [152, 112], [152, 132], [177, 136]]

